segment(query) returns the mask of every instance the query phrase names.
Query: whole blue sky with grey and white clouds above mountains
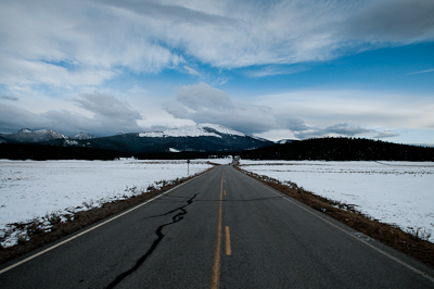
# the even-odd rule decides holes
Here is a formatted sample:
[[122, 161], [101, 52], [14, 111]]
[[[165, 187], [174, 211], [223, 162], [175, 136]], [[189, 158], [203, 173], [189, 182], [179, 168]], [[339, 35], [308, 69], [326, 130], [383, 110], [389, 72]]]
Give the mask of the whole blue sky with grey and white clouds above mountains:
[[0, 133], [434, 143], [434, 1], [0, 0]]

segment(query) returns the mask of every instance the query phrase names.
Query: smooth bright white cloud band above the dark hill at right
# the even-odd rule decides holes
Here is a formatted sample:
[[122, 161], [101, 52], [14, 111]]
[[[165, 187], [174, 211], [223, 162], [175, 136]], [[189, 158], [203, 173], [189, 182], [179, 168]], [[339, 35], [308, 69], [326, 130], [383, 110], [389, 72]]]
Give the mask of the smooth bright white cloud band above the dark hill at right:
[[375, 129], [433, 128], [434, 104], [430, 97], [397, 91], [299, 90], [252, 99], [277, 114], [301, 118], [309, 126], [328, 127], [339, 123]]

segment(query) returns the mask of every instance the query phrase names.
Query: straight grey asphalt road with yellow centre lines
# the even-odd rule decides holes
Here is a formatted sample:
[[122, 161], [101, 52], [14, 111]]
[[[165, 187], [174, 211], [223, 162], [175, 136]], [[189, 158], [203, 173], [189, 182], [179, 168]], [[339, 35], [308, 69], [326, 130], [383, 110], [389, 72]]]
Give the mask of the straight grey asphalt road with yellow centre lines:
[[4, 264], [0, 288], [434, 288], [431, 267], [228, 165], [69, 238]]

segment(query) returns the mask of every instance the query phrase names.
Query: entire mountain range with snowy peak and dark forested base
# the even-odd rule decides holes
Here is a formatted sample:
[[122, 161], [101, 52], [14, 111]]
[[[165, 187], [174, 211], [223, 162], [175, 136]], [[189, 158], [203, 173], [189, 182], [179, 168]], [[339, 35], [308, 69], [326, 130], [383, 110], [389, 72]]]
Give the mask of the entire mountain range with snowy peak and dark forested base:
[[254, 160], [434, 161], [433, 147], [343, 137], [272, 142], [214, 124], [99, 138], [28, 128], [0, 134], [0, 159], [10, 160], [186, 160], [228, 154]]

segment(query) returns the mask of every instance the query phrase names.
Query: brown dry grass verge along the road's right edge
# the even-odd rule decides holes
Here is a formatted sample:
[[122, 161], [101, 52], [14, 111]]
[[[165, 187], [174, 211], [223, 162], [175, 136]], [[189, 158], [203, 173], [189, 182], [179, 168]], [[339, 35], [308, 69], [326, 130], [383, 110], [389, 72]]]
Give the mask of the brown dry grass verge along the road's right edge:
[[418, 259], [427, 265], [434, 266], [434, 243], [425, 240], [427, 236], [424, 236], [423, 231], [420, 231], [420, 228], [406, 233], [397, 226], [384, 224], [361, 214], [354, 209], [354, 205], [339, 203], [316, 196], [297, 187], [294, 183], [281, 184], [277, 179], [250, 173], [240, 167], [235, 168], [375, 240]]

